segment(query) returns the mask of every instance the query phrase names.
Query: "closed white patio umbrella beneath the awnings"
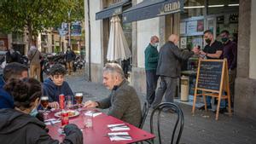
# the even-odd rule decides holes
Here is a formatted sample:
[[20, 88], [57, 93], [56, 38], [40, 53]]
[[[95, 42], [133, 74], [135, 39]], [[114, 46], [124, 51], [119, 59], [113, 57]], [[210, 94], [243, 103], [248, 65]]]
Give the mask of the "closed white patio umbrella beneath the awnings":
[[110, 21], [107, 60], [126, 60], [131, 56], [119, 16], [113, 16]]

